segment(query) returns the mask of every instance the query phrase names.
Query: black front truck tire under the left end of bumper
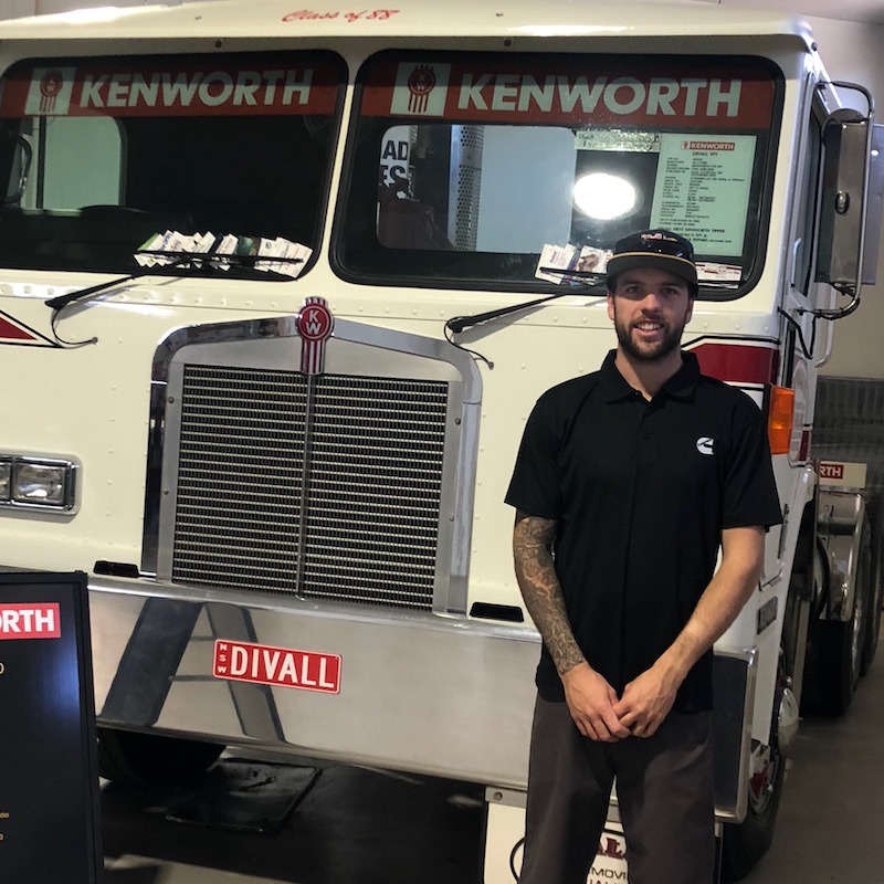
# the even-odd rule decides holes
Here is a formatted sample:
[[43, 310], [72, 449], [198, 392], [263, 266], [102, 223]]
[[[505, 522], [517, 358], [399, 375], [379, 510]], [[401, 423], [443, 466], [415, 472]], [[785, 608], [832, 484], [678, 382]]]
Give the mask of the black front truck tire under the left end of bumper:
[[189, 786], [223, 750], [213, 743], [99, 727], [98, 775], [137, 788]]

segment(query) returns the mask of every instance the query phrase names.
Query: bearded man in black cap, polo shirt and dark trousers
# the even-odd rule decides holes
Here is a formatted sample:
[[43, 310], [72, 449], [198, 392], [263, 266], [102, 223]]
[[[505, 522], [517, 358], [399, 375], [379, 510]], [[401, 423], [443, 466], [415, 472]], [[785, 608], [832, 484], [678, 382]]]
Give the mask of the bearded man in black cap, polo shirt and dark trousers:
[[519, 881], [586, 883], [617, 778], [630, 884], [711, 884], [712, 645], [780, 507], [759, 409], [680, 348], [691, 243], [627, 236], [607, 273], [618, 347], [540, 397], [506, 496], [544, 640]]

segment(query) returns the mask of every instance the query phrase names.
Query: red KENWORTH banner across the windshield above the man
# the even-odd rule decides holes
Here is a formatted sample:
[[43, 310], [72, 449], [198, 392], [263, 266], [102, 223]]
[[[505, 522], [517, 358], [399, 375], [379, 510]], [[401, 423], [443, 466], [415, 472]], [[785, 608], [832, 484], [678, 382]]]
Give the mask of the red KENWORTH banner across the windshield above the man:
[[[770, 126], [776, 83], [762, 67], [723, 61], [704, 76], [676, 62], [636, 56], [455, 55], [373, 63], [362, 91], [365, 116], [442, 117], [486, 123], [623, 125], [722, 129]], [[688, 128], [690, 131], [690, 128]], [[694, 144], [693, 139], [691, 140]], [[729, 150], [723, 139], [697, 147]]]

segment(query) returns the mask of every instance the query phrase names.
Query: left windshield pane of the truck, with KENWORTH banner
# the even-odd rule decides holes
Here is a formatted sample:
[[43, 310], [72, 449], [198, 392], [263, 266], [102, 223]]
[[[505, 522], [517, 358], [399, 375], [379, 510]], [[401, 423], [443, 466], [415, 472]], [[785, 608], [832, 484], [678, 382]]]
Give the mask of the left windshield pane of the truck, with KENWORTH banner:
[[17, 64], [0, 93], [0, 266], [130, 273], [167, 231], [246, 256], [296, 243], [303, 266], [345, 78], [316, 52]]

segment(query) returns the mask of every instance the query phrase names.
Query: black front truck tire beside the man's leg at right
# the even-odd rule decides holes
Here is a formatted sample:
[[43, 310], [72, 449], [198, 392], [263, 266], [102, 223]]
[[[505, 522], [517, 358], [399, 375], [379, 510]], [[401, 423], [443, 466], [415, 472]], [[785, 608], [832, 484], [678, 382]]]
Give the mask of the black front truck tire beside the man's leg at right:
[[782, 796], [786, 759], [776, 746], [762, 775], [749, 785], [749, 806], [741, 823], [725, 824], [722, 836], [722, 881], [740, 881], [755, 869], [774, 840]]

